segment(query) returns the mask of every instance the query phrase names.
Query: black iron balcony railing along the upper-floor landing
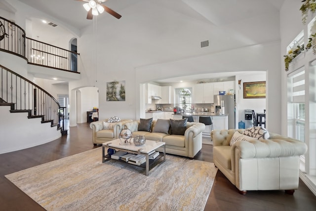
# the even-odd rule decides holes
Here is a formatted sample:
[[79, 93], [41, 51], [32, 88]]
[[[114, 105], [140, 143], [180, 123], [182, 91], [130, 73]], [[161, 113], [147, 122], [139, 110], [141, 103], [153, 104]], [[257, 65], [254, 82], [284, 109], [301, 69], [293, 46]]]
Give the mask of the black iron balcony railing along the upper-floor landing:
[[79, 53], [27, 38], [21, 27], [2, 17], [0, 50], [23, 57], [29, 64], [77, 72]]

